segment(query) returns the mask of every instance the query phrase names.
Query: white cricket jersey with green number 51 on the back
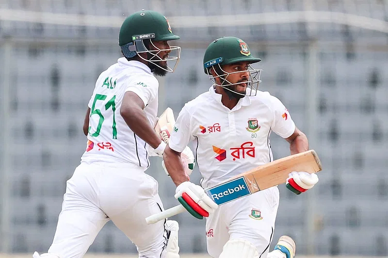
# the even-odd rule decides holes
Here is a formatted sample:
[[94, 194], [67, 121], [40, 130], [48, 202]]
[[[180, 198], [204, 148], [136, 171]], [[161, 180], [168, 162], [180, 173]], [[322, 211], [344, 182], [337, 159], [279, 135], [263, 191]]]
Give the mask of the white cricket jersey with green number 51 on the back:
[[91, 109], [88, 143], [81, 160], [148, 167], [148, 144], [129, 129], [120, 108], [127, 91], [136, 93], [153, 125], [158, 113], [158, 87], [158, 80], [145, 64], [124, 57], [102, 72], [88, 104]]

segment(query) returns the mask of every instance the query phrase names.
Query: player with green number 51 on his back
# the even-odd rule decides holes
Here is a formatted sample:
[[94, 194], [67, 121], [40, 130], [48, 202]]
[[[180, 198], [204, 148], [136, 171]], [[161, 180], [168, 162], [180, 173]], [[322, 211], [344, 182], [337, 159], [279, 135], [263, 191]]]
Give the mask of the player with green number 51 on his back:
[[145, 222], [163, 208], [157, 181], [145, 173], [149, 151], [161, 156], [166, 146], [154, 131], [159, 83], [152, 73], [174, 71], [180, 48], [168, 41], [176, 39], [154, 11], [134, 13], [122, 24], [124, 57], [97, 79], [83, 125], [86, 151], [67, 181], [49, 251], [33, 258], [81, 258], [109, 220], [135, 243], [139, 258], [179, 258], [178, 223]]

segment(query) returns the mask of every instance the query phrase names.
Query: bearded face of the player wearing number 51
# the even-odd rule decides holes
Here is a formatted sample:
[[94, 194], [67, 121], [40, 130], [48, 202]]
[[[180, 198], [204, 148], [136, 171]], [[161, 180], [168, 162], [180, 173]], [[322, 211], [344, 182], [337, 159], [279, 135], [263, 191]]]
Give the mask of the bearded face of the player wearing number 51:
[[[151, 62], [149, 62], [150, 69], [154, 71], [155, 75], [165, 76], [167, 71], [164, 69], [167, 69], [167, 67], [168, 67], [167, 61], [160, 61], [160, 59], [165, 60], [168, 57], [168, 54], [171, 52], [170, 45], [167, 43], [167, 41], [153, 41], [152, 43], [153, 44], [149, 45], [149, 50], [157, 50], [157, 48], [158, 48], [162, 51], [159, 52], [157, 54], [157, 56], [152, 55], [151, 53], [147, 53], [147, 58], [149, 60], [151, 60]], [[163, 51], [164, 49], [165, 49], [165, 51]], [[158, 66], [155, 65], [155, 63], [153, 63], [152, 60], [155, 60], [155, 63], [158, 64]], [[159, 60], [159, 61], [157, 61], [157, 60]]]

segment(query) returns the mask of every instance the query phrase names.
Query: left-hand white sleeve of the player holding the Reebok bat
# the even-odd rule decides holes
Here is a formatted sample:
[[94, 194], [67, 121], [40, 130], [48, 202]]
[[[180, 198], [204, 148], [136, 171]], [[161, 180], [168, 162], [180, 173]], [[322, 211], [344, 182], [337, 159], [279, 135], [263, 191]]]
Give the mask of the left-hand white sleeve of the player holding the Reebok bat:
[[191, 133], [190, 117], [190, 113], [185, 104], [179, 112], [174, 130], [168, 140], [168, 146], [170, 149], [176, 152], [182, 152], [189, 142], [194, 139], [194, 136]]

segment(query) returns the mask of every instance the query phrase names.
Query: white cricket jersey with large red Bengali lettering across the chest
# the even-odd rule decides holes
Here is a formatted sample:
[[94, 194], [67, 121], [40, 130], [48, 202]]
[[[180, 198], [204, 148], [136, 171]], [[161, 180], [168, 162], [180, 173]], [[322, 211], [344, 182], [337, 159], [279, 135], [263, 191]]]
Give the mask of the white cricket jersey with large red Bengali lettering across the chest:
[[273, 161], [271, 131], [283, 138], [295, 131], [286, 107], [268, 92], [246, 96], [230, 110], [213, 86], [185, 104], [175, 127], [168, 145], [182, 152], [194, 140], [204, 188]]

